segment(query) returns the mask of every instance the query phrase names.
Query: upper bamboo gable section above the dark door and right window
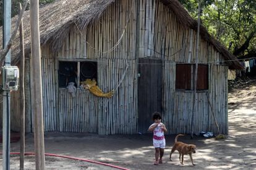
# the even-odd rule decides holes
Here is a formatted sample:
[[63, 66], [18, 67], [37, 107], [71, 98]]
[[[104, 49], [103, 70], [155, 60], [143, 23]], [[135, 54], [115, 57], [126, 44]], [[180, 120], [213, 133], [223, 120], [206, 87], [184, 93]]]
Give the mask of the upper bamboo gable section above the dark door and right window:
[[[140, 0], [139, 12], [139, 57], [195, 62], [196, 31], [182, 27], [176, 15], [158, 0]], [[220, 64], [223, 57], [200, 39], [198, 62]]]

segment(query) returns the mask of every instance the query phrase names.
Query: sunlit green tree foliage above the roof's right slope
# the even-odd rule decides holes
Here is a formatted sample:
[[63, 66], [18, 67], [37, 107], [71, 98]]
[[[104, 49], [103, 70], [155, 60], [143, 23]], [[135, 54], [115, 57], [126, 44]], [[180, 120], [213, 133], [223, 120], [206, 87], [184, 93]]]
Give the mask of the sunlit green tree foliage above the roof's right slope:
[[[196, 0], [180, 0], [197, 18]], [[211, 0], [202, 3], [202, 22], [210, 34], [239, 57], [256, 56], [256, 1]]]

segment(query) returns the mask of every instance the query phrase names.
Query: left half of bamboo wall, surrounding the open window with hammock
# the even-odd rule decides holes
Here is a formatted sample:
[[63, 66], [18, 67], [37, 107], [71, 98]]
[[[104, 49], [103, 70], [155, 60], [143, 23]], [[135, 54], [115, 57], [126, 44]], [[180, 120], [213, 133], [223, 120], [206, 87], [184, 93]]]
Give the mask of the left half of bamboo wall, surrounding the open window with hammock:
[[[137, 132], [136, 14], [135, 1], [117, 1], [88, 28], [80, 32], [74, 26], [55, 59], [48, 45], [42, 48], [45, 131]], [[66, 89], [58, 88], [59, 60], [97, 62], [98, 86], [103, 92], [114, 89], [126, 70], [126, 64], [129, 68], [113, 98], [101, 99], [77, 89], [72, 99]], [[58, 91], [58, 95], [54, 91]], [[59, 101], [55, 96], [59, 96]]]

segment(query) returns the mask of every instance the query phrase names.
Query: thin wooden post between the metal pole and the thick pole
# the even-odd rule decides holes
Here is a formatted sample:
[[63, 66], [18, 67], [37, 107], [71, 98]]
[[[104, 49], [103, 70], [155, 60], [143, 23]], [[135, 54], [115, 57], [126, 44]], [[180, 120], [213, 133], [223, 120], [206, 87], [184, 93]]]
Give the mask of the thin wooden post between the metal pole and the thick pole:
[[[19, 10], [22, 6], [19, 3]], [[25, 93], [24, 93], [24, 40], [23, 40], [23, 22], [20, 21], [20, 169], [24, 169], [25, 153]]]

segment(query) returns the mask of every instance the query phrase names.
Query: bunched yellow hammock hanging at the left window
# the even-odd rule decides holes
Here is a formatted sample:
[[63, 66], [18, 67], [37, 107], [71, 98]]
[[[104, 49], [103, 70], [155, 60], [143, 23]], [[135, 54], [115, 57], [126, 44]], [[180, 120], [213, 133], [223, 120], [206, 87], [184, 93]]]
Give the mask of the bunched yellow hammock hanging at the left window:
[[101, 89], [96, 85], [97, 82], [95, 79], [86, 79], [85, 81], [81, 81], [80, 84], [83, 86], [84, 89], [89, 90], [92, 94], [98, 97], [107, 97], [111, 98], [114, 95], [114, 90], [104, 93]]

